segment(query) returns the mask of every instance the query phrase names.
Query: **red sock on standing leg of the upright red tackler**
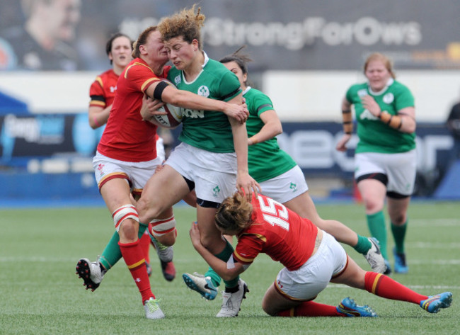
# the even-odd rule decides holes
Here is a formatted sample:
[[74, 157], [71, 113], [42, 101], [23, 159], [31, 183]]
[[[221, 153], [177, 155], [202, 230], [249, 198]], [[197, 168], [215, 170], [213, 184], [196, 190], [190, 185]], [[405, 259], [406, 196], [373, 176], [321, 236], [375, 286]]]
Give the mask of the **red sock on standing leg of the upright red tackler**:
[[144, 254], [142, 253], [141, 246], [139, 245], [140, 240], [138, 239], [134, 243], [121, 243], [120, 251], [122, 252], [123, 259], [131, 271], [131, 276], [142, 295], [142, 303], [149, 300], [155, 295], [151, 292], [149, 276], [145, 266]]

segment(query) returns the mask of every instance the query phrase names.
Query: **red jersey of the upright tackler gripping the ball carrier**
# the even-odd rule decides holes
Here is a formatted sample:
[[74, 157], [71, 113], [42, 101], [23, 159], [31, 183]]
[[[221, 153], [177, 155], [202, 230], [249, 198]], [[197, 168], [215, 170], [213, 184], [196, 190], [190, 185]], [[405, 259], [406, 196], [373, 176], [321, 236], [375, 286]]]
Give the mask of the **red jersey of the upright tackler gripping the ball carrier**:
[[[166, 78], [171, 67], [164, 67]], [[127, 65], [117, 81], [117, 90], [98, 152], [120, 161], [156, 158], [156, 125], [142, 120], [142, 97], [151, 84], [161, 80], [140, 58]], [[152, 150], [153, 148], [153, 150]]]

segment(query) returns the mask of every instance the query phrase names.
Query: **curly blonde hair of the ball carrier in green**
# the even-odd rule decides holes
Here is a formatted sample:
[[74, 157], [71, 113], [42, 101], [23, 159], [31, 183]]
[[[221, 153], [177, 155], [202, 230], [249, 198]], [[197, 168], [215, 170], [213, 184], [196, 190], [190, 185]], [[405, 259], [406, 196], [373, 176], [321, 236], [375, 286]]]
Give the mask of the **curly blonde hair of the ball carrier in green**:
[[188, 43], [197, 40], [200, 50], [202, 50], [201, 27], [205, 25], [206, 17], [201, 13], [200, 7], [195, 13], [196, 7], [197, 4], [194, 4], [192, 8], [184, 8], [173, 16], [163, 18], [158, 25], [163, 41], [182, 36]]

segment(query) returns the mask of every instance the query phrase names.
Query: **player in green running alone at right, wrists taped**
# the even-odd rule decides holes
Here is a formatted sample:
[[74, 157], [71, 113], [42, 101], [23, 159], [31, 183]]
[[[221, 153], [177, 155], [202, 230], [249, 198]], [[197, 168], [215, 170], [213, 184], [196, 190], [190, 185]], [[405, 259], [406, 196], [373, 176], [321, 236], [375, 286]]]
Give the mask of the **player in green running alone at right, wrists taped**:
[[394, 271], [407, 273], [404, 239], [407, 210], [417, 170], [415, 157], [415, 107], [409, 89], [395, 80], [388, 57], [374, 53], [364, 63], [367, 82], [347, 90], [342, 101], [343, 130], [337, 149], [345, 152], [352, 137], [352, 112], [360, 141], [355, 151], [355, 180], [366, 208], [367, 225], [380, 242], [381, 254], [391, 269], [386, 251], [384, 204], [395, 242]]

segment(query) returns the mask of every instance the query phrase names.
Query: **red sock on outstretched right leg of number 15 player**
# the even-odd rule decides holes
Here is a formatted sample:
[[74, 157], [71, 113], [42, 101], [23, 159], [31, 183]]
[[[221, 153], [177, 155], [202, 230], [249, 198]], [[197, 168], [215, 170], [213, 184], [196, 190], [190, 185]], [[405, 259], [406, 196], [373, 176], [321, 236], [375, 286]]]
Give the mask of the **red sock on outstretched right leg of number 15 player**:
[[366, 276], [364, 276], [364, 288], [379, 297], [412, 302], [417, 305], [420, 304], [420, 301], [428, 298], [426, 295], [420, 295], [396, 280], [376, 272], [366, 273]]

